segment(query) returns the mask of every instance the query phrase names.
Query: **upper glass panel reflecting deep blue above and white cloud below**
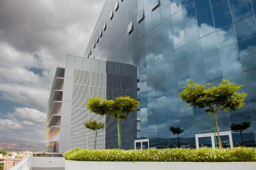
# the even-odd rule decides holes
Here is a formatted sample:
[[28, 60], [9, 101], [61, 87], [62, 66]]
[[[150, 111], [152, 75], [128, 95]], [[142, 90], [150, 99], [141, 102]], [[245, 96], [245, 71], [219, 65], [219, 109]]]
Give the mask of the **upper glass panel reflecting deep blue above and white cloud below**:
[[[203, 1], [208, 1], [208, 0], [203, 0]], [[215, 31], [214, 20], [212, 19], [212, 13], [210, 9], [199, 14], [197, 16], [197, 19], [198, 19], [200, 37], [203, 37]]]

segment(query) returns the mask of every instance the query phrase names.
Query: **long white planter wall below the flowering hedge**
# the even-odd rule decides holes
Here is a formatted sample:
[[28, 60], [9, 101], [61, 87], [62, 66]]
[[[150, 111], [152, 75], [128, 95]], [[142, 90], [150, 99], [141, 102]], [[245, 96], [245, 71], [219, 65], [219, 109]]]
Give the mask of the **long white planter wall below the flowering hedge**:
[[66, 160], [65, 170], [255, 170], [256, 162], [94, 162]]

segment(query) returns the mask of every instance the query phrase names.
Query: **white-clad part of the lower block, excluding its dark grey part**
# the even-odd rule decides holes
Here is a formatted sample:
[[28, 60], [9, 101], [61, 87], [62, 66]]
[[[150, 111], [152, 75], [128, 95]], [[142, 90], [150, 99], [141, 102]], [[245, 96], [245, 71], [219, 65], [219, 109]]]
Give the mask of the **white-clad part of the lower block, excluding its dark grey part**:
[[[47, 106], [46, 138], [49, 152], [93, 148], [95, 134], [83, 126], [89, 119], [105, 123], [105, 116], [87, 110], [89, 98], [106, 98], [106, 61], [67, 55], [57, 67]], [[105, 130], [98, 132], [97, 148], [105, 147]]]

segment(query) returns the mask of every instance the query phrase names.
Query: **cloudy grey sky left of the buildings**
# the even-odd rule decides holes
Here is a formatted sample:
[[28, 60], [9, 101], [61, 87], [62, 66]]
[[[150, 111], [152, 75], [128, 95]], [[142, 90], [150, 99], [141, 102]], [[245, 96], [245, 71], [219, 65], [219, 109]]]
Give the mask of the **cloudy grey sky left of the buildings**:
[[104, 0], [0, 0], [0, 136], [45, 140], [57, 66], [82, 56]]

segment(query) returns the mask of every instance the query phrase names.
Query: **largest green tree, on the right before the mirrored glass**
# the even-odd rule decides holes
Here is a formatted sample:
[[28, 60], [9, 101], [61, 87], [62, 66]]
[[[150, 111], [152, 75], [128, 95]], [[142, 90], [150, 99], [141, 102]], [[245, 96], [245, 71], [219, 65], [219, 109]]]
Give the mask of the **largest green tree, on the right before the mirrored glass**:
[[196, 84], [192, 79], [188, 80], [188, 84], [184, 90], [178, 95], [181, 100], [188, 103], [189, 106], [195, 108], [206, 108], [205, 112], [214, 113], [215, 125], [218, 134], [219, 147], [223, 148], [219, 134], [219, 127], [217, 122], [217, 111], [236, 111], [245, 105], [244, 100], [246, 93], [238, 92], [243, 85], [230, 83], [223, 79], [219, 86], [210, 86]]

